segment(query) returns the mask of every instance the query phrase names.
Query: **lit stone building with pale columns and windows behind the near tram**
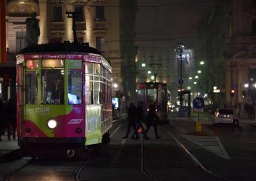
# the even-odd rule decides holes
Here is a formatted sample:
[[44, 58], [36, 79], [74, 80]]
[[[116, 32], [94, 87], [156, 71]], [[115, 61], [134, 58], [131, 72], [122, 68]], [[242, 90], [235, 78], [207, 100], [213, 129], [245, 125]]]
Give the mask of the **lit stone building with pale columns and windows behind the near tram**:
[[[73, 20], [67, 16], [66, 12], [75, 11], [78, 12], [75, 19], [77, 40], [88, 42], [90, 47], [95, 47], [110, 60], [112, 82], [118, 84], [115, 89], [119, 89], [121, 87], [121, 52], [118, 6], [118, 0], [91, 0], [87, 4], [77, 0], [7, 0], [7, 63], [1, 64], [1, 69], [5, 67], [15, 69], [16, 54], [27, 47], [25, 20], [31, 16], [31, 13], [36, 12], [36, 18], [39, 20], [41, 34], [38, 37], [38, 44], [46, 44], [74, 41]], [[7, 75], [0, 75], [1, 78], [4, 76]], [[15, 81], [13, 83], [12, 86], [15, 87]], [[7, 92], [7, 94], [11, 93]]]

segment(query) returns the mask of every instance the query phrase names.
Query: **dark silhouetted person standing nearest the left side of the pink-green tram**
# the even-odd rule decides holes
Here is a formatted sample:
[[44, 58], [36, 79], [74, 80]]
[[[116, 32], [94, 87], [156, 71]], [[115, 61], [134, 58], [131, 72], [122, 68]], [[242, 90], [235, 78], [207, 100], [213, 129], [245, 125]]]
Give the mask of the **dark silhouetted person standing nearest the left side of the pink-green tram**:
[[4, 113], [6, 114], [7, 138], [10, 141], [10, 135], [13, 135], [13, 140], [16, 140], [16, 106], [13, 99], [10, 98], [5, 107]]

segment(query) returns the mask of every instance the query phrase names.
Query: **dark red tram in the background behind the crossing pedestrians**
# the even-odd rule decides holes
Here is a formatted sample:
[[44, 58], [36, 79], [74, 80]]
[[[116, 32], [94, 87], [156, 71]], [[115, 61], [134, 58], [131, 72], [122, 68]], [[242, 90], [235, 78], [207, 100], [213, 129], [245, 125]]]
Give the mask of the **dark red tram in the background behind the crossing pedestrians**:
[[160, 120], [166, 120], [167, 113], [167, 84], [158, 82], [138, 83], [138, 101], [144, 103], [144, 112], [149, 110], [149, 105], [154, 104]]

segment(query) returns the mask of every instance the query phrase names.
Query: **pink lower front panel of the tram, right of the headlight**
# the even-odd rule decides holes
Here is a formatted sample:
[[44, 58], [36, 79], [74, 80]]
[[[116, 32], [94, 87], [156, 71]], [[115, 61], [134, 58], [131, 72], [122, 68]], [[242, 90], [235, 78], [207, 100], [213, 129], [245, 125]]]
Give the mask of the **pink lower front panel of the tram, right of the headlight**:
[[[58, 126], [54, 129], [55, 137], [84, 137], [85, 135], [85, 109], [84, 106], [73, 107], [68, 115], [56, 117]], [[76, 132], [77, 129], [81, 132]]]

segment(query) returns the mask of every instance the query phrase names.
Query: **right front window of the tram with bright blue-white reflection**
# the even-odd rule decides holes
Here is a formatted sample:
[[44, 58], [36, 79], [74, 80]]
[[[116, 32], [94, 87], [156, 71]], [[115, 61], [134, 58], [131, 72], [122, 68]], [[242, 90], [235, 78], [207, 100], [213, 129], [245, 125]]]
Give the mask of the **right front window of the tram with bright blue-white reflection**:
[[83, 73], [81, 71], [68, 72], [68, 103], [81, 104], [83, 94]]

